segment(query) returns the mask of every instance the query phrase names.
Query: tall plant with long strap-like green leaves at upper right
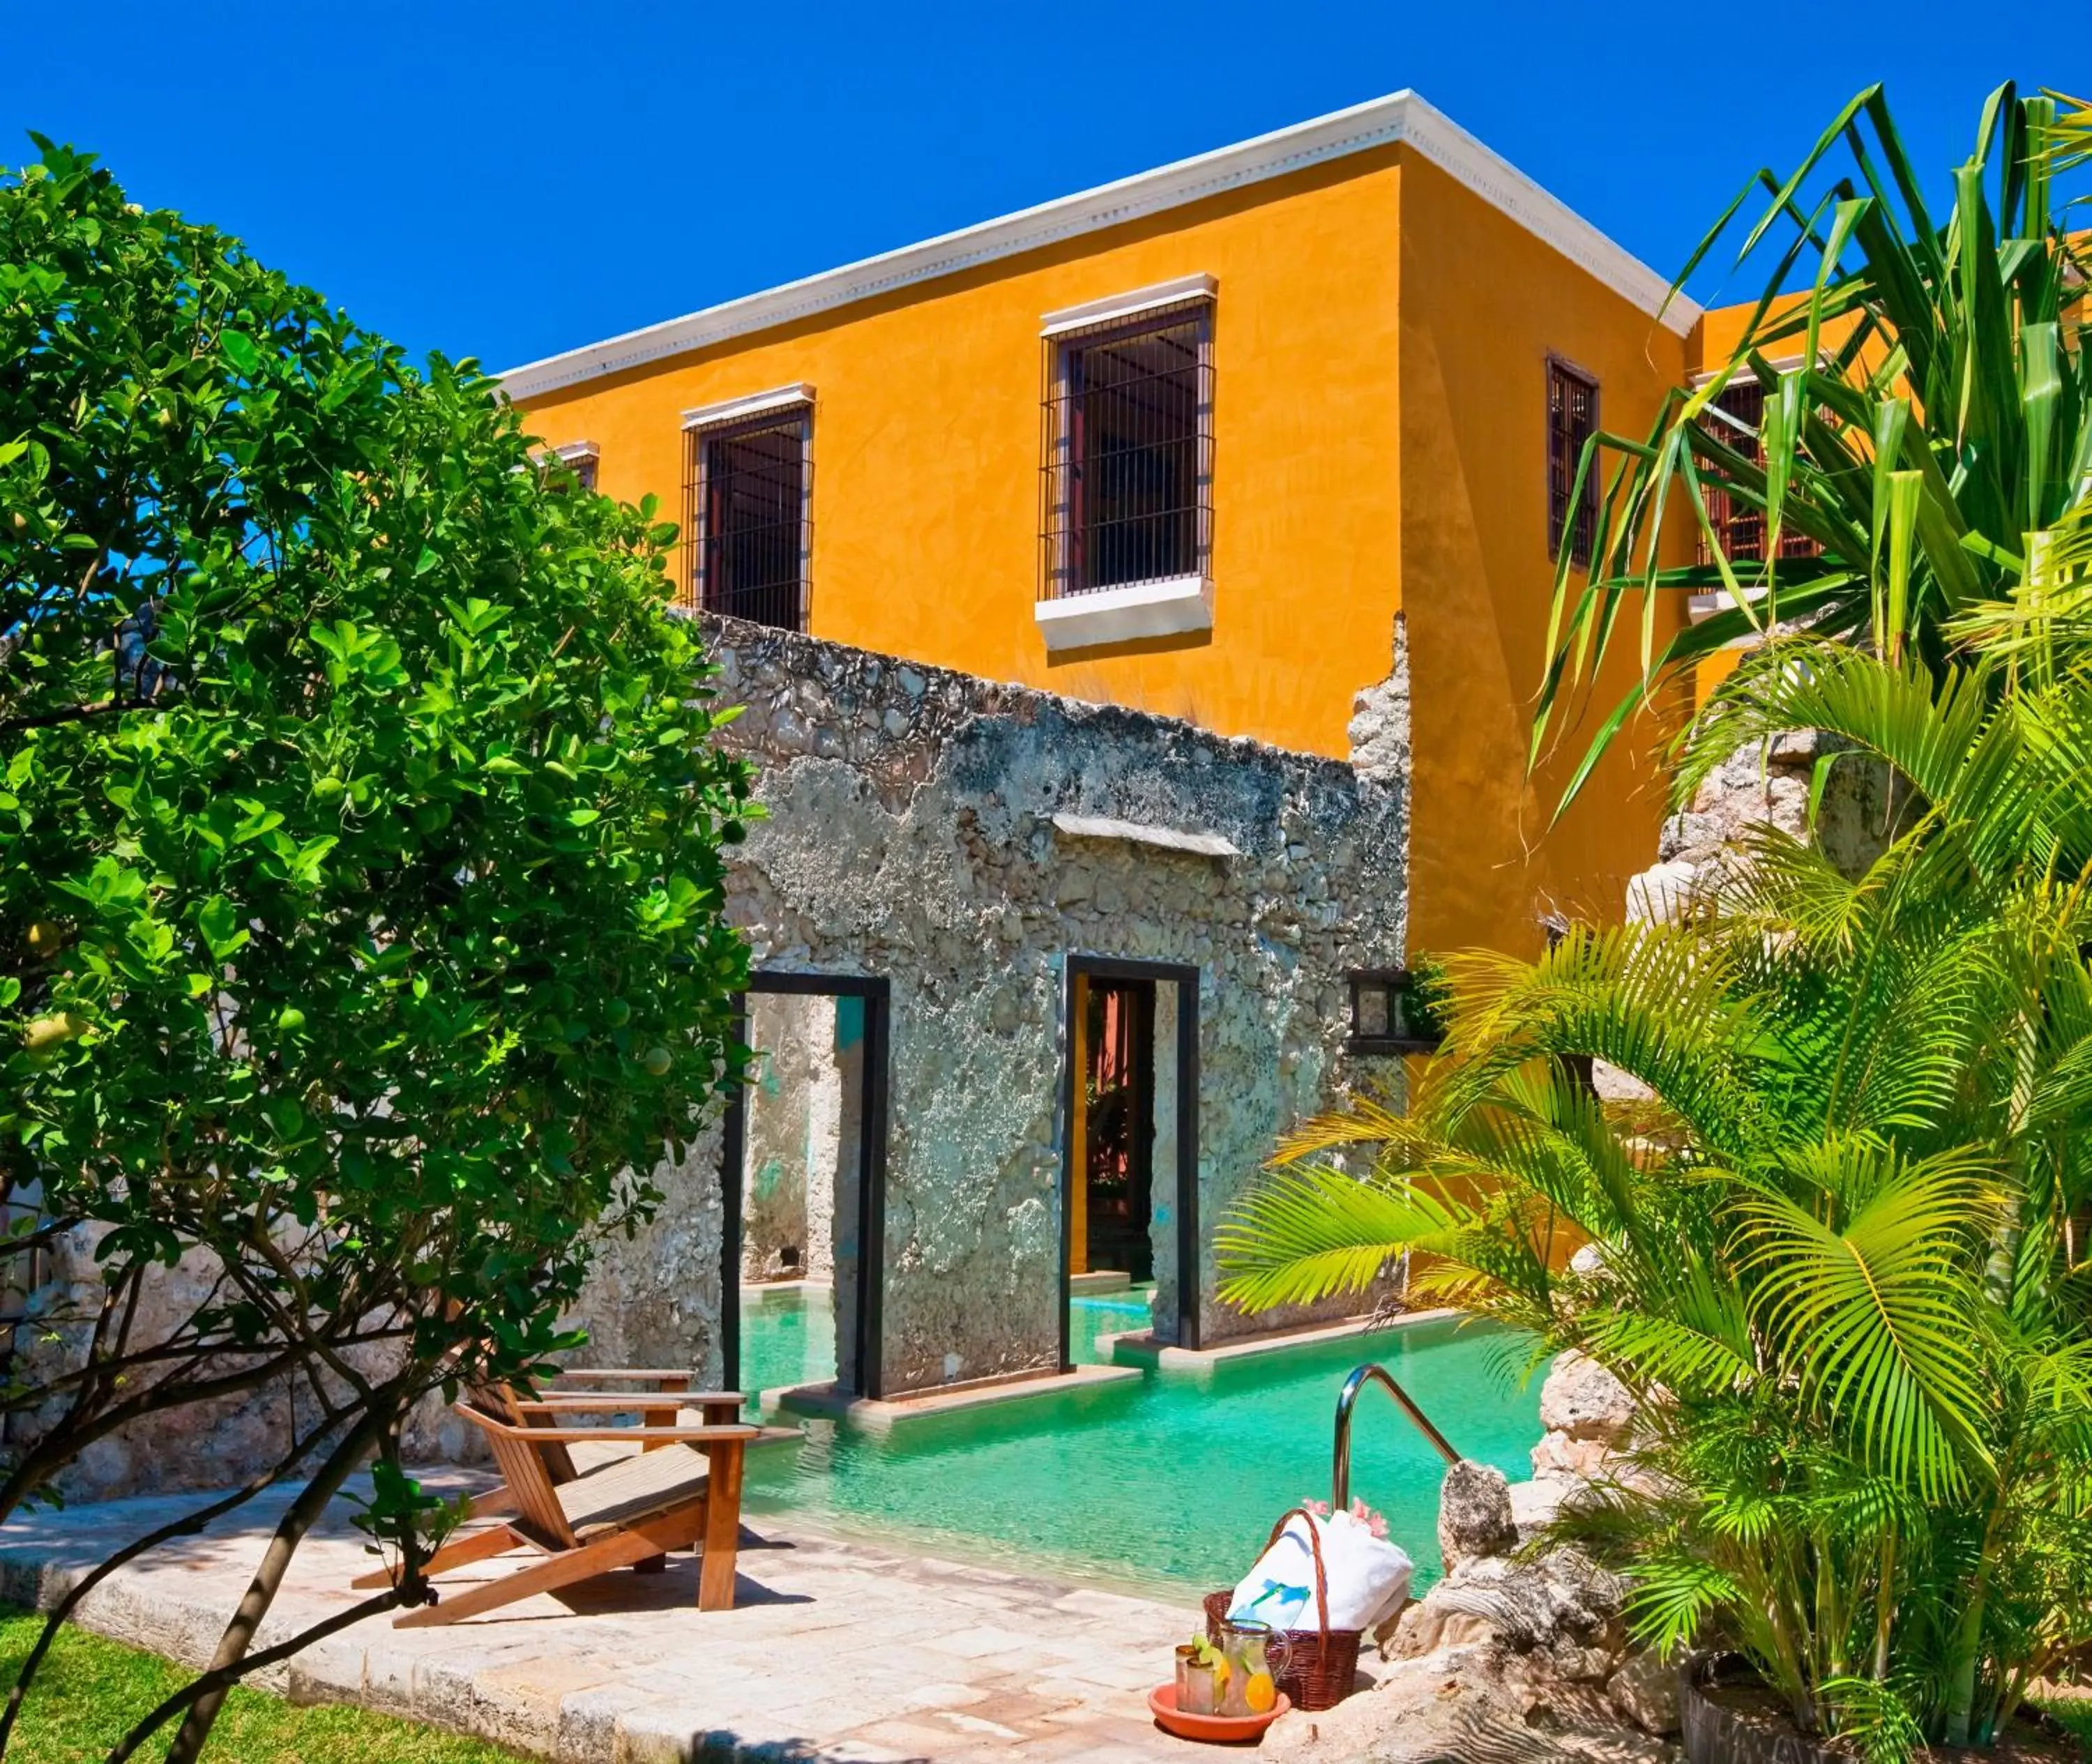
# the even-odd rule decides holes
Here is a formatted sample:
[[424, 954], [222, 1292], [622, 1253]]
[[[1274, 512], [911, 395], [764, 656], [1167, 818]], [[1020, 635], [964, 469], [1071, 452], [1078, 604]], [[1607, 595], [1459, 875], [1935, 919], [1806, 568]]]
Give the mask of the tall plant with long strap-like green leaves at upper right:
[[[1605, 481], [1600, 542], [1573, 598], [1567, 548], [1559, 565], [1533, 755], [1636, 598], [1642, 678], [1563, 806], [1636, 705], [1738, 638], [1803, 624], [1941, 678], [1954, 621], [2027, 573], [2029, 534], [2069, 525], [2092, 473], [2092, 349], [2086, 241], [2059, 193], [2086, 163], [2092, 107], [2002, 86], [1935, 216], [1870, 86], [1793, 174], [1759, 172], [1730, 203], [1680, 285], [1747, 224], [1736, 264], [1766, 280], [1734, 347], [1646, 435], [1600, 433], [1579, 467], [1577, 494]], [[1734, 387], [1757, 387], [1761, 419], [1724, 410]], [[1724, 525], [1709, 498], [1755, 519]], [[1713, 609], [1659, 647], [1678, 594]]]

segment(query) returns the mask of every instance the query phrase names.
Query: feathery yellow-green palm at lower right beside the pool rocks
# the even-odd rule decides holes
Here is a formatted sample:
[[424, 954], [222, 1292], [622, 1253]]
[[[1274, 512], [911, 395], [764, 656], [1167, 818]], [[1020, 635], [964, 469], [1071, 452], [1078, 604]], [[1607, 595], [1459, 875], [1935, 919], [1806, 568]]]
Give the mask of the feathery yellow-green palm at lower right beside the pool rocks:
[[1295, 1134], [1224, 1293], [1410, 1251], [1420, 1295], [1594, 1356], [1646, 1417], [1579, 1521], [1640, 1636], [1743, 1649], [1803, 1731], [1981, 1743], [2092, 1641], [2092, 900], [1937, 801], [1858, 879], [1745, 856], [1711, 921], [1452, 958], [1410, 1111]]

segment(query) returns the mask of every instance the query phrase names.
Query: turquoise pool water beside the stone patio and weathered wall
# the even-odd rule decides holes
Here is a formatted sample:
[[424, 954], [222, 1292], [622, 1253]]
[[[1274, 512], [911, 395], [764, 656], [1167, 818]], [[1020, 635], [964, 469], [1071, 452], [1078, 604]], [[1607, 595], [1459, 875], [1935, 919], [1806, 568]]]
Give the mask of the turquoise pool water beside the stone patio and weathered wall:
[[[1077, 1348], [1142, 1327], [1125, 1320], [1130, 1312], [1144, 1318], [1140, 1293], [1075, 1306]], [[770, 1352], [753, 1337], [772, 1320], [799, 1343], [820, 1327], [818, 1312], [803, 1308], [801, 1325], [784, 1325], [770, 1306], [751, 1306], [745, 1318], [745, 1356]], [[1343, 1375], [1362, 1360], [1385, 1364], [1462, 1454], [1515, 1477], [1531, 1473], [1540, 1381], [1521, 1379], [1521, 1339], [1423, 1322], [1205, 1373], [1146, 1371], [1082, 1392], [925, 1415], [885, 1435], [810, 1421], [801, 1444], [751, 1454], [747, 1502], [1010, 1569], [1061, 1569], [1163, 1597], [1209, 1592], [1249, 1569], [1287, 1507], [1328, 1498], [1331, 1412]], [[816, 1375], [831, 1377], [833, 1358]], [[745, 1389], [768, 1383], [743, 1373]], [[1351, 1492], [1387, 1515], [1418, 1584], [1437, 1578], [1441, 1471], [1387, 1394], [1368, 1389], [1354, 1427]]]

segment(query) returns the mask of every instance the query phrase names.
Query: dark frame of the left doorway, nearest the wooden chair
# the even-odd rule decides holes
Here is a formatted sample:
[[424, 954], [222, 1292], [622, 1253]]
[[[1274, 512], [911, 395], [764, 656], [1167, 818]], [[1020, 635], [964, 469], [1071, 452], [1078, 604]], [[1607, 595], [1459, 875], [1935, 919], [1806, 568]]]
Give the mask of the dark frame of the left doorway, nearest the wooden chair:
[[[795, 998], [864, 1000], [864, 1096], [858, 1132], [858, 1314], [851, 1322], [858, 1383], [851, 1396], [877, 1398], [883, 1389], [885, 1264], [887, 1264], [887, 1086], [893, 988], [881, 975], [801, 973], [757, 969], [747, 992], [734, 994], [734, 1040], [747, 1044], [749, 992]], [[720, 1350], [726, 1389], [741, 1389], [741, 1201], [749, 1180], [747, 1086], [726, 1099], [720, 1145]], [[1065, 1281], [1063, 1281], [1065, 1285]]]

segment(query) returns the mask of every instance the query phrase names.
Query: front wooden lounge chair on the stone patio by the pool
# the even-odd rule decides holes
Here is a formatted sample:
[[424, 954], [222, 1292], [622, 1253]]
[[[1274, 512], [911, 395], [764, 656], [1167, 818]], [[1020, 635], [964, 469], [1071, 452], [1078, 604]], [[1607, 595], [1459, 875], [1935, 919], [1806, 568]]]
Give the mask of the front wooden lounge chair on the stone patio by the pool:
[[[406, 1611], [393, 1618], [395, 1628], [454, 1624], [536, 1592], [594, 1580], [613, 1567], [651, 1565], [667, 1551], [699, 1542], [697, 1609], [732, 1609], [743, 1452], [761, 1438], [759, 1427], [709, 1421], [680, 1427], [674, 1425], [674, 1410], [669, 1425], [577, 1425], [567, 1419], [630, 1410], [636, 1406], [632, 1392], [508, 1394], [508, 1402], [529, 1417], [525, 1421], [498, 1412], [500, 1404], [490, 1398], [490, 1392], [477, 1392], [456, 1410], [487, 1435], [502, 1473], [502, 1511], [513, 1517], [444, 1544], [425, 1574], [446, 1574], [515, 1548], [540, 1551], [544, 1561]], [[726, 1394], [718, 1400], [726, 1402]], [[738, 1406], [738, 1398], [734, 1402]], [[550, 1425], [554, 1421], [559, 1425]], [[636, 1442], [642, 1450], [575, 1475], [565, 1448], [584, 1440]], [[565, 1479], [554, 1479], [546, 1463], [554, 1450], [567, 1461]], [[391, 1571], [381, 1569], [358, 1578], [356, 1586], [385, 1586], [389, 1580]]]

